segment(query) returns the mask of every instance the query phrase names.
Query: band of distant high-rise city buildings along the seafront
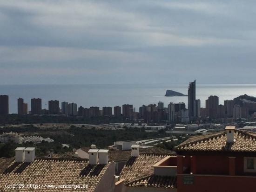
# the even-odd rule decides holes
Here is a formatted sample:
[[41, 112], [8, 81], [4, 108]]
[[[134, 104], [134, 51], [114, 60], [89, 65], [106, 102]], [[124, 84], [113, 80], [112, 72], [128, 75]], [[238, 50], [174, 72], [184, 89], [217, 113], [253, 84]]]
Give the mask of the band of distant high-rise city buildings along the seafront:
[[[249, 114], [256, 111], [255, 97], [250, 97], [244, 94], [242, 100], [234, 98], [232, 100], [224, 100], [224, 105], [219, 105], [219, 97], [216, 95], [210, 95], [205, 100], [205, 108], [201, 107], [201, 100], [196, 99], [196, 81], [189, 82], [188, 86], [188, 106], [184, 102], [178, 103], [169, 102], [167, 107], [164, 107], [164, 102], [159, 101], [157, 105], [151, 103], [149, 105], [142, 105], [139, 107], [139, 112], [136, 112], [135, 107], [132, 104], [122, 104], [121, 106], [114, 107], [114, 116], [120, 118], [121, 115], [125, 119], [143, 119], [145, 122], [164, 122], [169, 123], [181, 122], [188, 123], [189, 121], [195, 121], [196, 119], [241, 119], [249, 118]], [[180, 98], [180, 97], [178, 97]], [[181, 97], [182, 98], [182, 97]], [[9, 111], [9, 98], [8, 95], [0, 95], [0, 107], [3, 115], [8, 114]], [[248, 102], [249, 99], [249, 102]], [[251, 100], [252, 99], [252, 100]], [[17, 99], [18, 114], [27, 114], [27, 104], [24, 103], [23, 98]], [[23, 109], [25, 108], [25, 110]], [[113, 116], [113, 106], [102, 106], [102, 109], [98, 106], [83, 107], [74, 102], [68, 103], [66, 101], [61, 102], [59, 100], [49, 100], [48, 110], [42, 108], [42, 99], [31, 99], [31, 111], [28, 114], [32, 115], [57, 115], [64, 114], [66, 116], [82, 116], [86, 118], [99, 117], [99, 116]], [[254, 115], [254, 113], [253, 113]]]

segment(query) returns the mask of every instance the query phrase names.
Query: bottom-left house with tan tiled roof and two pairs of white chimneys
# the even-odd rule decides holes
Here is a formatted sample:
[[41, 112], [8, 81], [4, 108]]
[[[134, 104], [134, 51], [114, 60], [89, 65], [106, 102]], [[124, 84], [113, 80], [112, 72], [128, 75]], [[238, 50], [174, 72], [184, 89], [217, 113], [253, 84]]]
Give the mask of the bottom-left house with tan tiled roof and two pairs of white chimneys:
[[[108, 160], [108, 150], [89, 151], [89, 160], [36, 158], [33, 147], [18, 147], [15, 153], [15, 160], [0, 173], [1, 192], [13, 192], [12, 187], [6, 187], [13, 183], [24, 185], [15, 190], [19, 192], [114, 192], [115, 190], [115, 163]], [[42, 185], [44, 188], [41, 187]]]

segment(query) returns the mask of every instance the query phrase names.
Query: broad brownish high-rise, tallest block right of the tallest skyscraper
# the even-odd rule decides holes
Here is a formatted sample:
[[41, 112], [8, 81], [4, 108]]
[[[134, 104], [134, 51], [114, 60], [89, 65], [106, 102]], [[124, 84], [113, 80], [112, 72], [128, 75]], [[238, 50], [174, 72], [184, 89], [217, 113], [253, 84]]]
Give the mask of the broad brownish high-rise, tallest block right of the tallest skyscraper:
[[217, 110], [219, 106], [219, 97], [217, 96], [209, 96], [208, 99], [205, 101], [205, 108], [207, 111], [207, 115], [210, 119], [217, 118]]

